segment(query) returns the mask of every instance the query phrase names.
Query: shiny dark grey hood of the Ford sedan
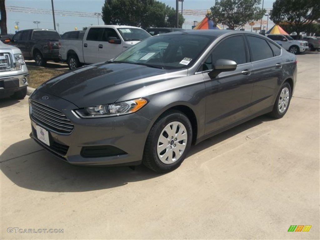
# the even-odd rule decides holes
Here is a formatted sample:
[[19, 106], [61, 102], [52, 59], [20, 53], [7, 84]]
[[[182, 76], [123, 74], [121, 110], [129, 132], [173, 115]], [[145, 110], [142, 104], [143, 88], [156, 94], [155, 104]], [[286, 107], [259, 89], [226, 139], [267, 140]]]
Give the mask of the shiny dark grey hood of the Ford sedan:
[[172, 70], [127, 63], [98, 63], [52, 78], [36, 91], [83, 108], [113, 103], [129, 92], [173, 76], [176, 74]]

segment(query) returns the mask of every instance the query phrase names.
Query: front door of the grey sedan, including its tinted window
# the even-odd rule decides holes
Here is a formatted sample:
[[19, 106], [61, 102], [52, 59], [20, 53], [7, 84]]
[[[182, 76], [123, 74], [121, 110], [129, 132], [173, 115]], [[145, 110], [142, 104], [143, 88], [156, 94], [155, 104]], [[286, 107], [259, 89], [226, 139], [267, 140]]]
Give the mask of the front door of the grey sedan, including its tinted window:
[[[218, 43], [203, 65], [206, 86], [205, 133], [218, 130], [250, 115], [248, 109], [253, 81], [252, 63], [242, 35], [231, 36]], [[211, 78], [208, 72], [212, 63], [218, 59], [233, 60], [237, 63], [235, 71], [222, 72]]]

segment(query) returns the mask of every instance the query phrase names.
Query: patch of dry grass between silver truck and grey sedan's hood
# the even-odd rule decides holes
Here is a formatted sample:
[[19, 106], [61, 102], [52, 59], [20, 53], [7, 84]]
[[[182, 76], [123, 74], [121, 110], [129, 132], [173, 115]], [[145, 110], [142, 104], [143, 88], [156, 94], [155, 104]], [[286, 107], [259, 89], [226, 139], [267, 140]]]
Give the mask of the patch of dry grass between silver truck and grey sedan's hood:
[[28, 65], [28, 72], [30, 75], [29, 79], [29, 87], [37, 88], [40, 84], [49, 80], [52, 77], [58, 76], [61, 73], [65, 73], [65, 71], [49, 69], [49, 68], [41, 68]]

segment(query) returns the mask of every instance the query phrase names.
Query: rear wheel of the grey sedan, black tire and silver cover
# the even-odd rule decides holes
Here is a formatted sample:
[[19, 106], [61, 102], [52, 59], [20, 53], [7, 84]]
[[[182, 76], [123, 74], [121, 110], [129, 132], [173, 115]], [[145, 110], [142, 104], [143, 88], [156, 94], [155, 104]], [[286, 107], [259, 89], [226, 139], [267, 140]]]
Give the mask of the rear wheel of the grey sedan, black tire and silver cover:
[[291, 86], [285, 82], [277, 95], [276, 102], [273, 106], [272, 112], [269, 114], [273, 118], [282, 118], [288, 111], [291, 97]]

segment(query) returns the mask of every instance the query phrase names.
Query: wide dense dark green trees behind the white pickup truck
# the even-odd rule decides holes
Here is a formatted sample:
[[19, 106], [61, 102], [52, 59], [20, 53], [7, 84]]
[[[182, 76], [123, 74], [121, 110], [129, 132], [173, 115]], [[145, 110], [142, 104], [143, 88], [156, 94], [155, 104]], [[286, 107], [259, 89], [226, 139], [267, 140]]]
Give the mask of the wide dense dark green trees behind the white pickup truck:
[[[174, 8], [155, 0], [106, 0], [102, 7], [102, 20], [105, 24], [141, 28], [174, 27], [172, 13], [175, 14]], [[180, 16], [181, 26], [183, 22], [184, 18]]]

